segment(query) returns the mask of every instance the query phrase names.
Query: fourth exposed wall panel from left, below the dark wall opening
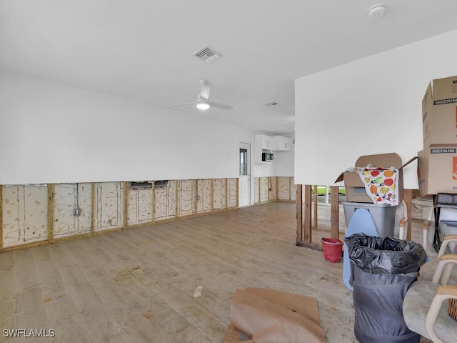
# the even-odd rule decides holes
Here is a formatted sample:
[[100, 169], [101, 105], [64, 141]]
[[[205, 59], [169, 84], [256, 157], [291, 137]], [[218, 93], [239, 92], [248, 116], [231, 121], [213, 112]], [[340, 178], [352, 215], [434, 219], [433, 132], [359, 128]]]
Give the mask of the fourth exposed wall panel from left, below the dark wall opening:
[[127, 225], [152, 222], [152, 188], [129, 188], [127, 194]]

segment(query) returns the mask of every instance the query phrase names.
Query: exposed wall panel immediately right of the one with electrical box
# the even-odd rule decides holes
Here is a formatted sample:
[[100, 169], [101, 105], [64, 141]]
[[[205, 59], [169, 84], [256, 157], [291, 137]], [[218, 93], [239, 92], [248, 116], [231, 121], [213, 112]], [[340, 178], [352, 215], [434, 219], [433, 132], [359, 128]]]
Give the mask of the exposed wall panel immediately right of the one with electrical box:
[[94, 232], [124, 226], [124, 182], [94, 184]]

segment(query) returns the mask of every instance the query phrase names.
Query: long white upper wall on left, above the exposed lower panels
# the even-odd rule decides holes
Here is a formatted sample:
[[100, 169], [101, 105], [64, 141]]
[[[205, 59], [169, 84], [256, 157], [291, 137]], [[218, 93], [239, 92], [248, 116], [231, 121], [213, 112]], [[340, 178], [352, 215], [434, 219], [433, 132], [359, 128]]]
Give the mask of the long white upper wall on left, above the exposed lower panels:
[[0, 184], [238, 177], [253, 132], [0, 71]]

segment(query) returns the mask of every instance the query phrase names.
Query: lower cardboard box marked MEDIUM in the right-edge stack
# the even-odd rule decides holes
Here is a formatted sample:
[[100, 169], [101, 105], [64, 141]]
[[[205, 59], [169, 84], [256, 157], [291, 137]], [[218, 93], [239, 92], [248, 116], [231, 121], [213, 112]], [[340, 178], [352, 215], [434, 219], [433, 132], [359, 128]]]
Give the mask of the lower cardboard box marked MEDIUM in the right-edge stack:
[[457, 144], [418, 151], [419, 194], [457, 193]]

